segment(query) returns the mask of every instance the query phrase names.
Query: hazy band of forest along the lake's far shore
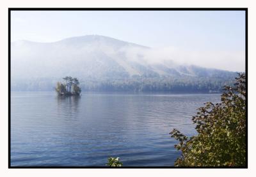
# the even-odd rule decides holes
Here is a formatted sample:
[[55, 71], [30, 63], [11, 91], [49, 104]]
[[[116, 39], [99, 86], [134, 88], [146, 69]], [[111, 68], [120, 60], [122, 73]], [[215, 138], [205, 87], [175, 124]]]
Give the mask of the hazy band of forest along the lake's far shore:
[[[12, 90], [53, 90], [59, 80], [19, 80], [12, 82]], [[133, 76], [124, 79], [94, 80], [82, 78], [80, 87], [84, 91], [129, 91], [129, 92], [209, 92], [221, 91], [224, 85], [234, 83], [235, 76], [227, 78], [203, 77], [152, 77]], [[66, 85], [66, 89], [70, 89]], [[74, 88], [76, 89], [76, 87]]]

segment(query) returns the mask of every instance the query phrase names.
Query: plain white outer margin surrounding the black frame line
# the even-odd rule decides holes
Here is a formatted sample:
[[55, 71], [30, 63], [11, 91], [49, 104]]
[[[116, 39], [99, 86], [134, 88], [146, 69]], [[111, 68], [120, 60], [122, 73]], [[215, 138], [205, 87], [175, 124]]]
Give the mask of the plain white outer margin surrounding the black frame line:
[[[8, 8], [248, 8], [248, 169], [8, 169]], [[255, 0], [1, 0], [0, 1], [0, 176], [255, 176], [256, 67]], [[254, 89], [253, 89], [254, 88]]]

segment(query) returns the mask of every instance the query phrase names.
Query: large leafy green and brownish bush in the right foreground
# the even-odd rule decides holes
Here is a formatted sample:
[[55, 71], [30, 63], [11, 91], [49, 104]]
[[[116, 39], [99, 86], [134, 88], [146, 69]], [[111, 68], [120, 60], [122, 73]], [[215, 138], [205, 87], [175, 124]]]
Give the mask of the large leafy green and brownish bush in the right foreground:
[[239, 74], [234, 87], [226, 86], [221, 103], [205, 103], [192, 118], [196, 136], [177, 129], [170, 134], [179, 141], [182, 155], [175, 166], [246, 166], [246, 75]]

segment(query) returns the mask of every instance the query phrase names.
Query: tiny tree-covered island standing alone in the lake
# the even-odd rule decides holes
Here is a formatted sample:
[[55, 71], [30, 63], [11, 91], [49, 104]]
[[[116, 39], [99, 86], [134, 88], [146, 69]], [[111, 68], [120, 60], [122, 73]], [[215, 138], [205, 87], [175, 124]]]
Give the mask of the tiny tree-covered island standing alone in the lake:
[[58, 81], [55, 88], [58, 96], [80, 96], [81, 88], [77, 78], [66, 76], [63, 80], [65, 80], [65, 83]]

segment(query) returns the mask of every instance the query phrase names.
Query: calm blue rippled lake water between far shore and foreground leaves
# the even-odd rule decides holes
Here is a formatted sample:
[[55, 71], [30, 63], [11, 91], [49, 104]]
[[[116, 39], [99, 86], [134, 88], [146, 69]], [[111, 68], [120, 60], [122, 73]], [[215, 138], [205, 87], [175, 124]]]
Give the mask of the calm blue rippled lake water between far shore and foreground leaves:
[[220, 94], [12, 92], [12, 166], [173, 166], [169, 132], [195, 134], [191, 117]]

